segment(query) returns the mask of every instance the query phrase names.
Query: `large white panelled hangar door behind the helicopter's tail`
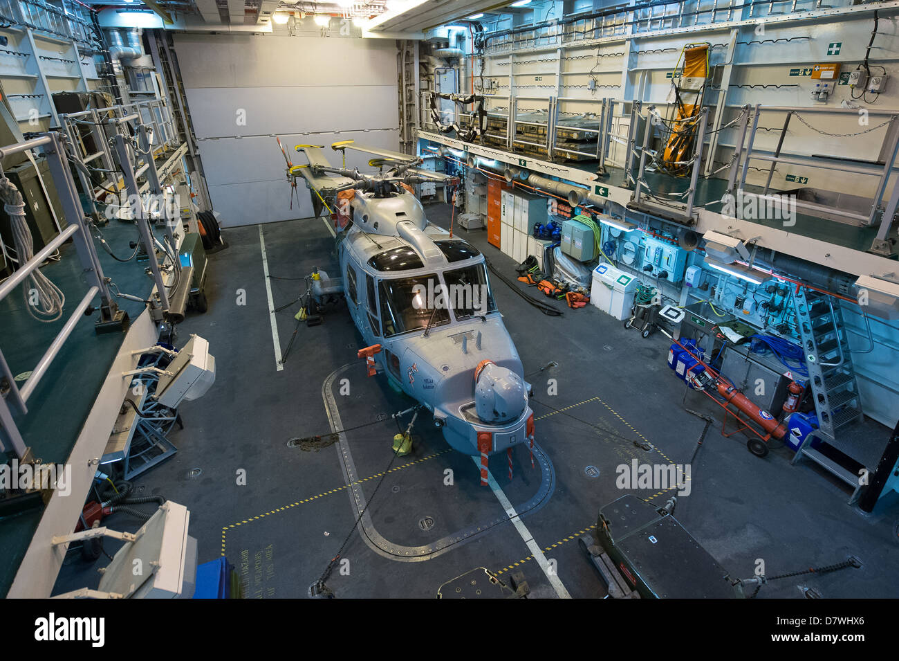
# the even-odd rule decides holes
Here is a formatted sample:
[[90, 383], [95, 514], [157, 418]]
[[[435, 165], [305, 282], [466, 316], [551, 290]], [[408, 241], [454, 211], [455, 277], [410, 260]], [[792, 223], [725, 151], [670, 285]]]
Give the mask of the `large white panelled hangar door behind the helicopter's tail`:
[[[306, 162], [298, 144], [399, 147], [394, 40], [175, 34], [174, 46], [223, 227], [313, 215], [302, 180], [290, 208], [276, 135], [295, 164]], [[347, 152], [348, 167], [367, 164]]]

